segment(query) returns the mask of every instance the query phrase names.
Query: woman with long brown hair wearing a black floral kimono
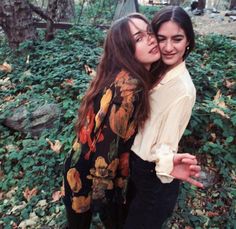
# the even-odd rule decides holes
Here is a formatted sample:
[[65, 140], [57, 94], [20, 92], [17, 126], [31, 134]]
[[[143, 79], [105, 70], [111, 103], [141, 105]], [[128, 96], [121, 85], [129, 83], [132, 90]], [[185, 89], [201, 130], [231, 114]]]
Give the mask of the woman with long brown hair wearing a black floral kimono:
[[69, 228], [122, 228], [118, 215], [125, 203], [129, 150], [149, 115], [148, 94], [156, 75], [152, 64], [159, 59], [157, 40], [144, 16], [132, 14], [111, 26], [65, 162]]

